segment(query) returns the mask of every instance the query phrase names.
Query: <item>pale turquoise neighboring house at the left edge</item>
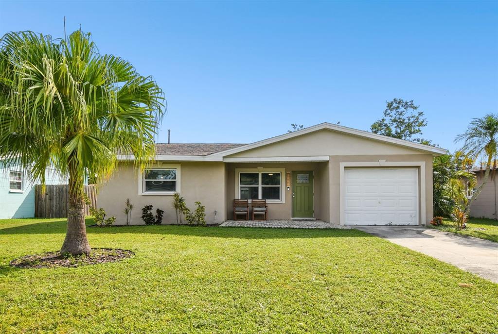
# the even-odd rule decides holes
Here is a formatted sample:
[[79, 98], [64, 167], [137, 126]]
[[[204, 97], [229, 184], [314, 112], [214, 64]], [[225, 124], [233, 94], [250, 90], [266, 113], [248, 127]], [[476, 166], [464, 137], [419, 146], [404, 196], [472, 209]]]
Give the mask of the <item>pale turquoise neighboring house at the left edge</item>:
[[[54, 169], [47, 170], [46, 184], [67, 184]], [[19, 166], [0, 160], [0, 219], [34, 217], [34, 182]]]

